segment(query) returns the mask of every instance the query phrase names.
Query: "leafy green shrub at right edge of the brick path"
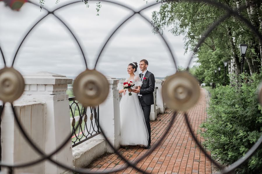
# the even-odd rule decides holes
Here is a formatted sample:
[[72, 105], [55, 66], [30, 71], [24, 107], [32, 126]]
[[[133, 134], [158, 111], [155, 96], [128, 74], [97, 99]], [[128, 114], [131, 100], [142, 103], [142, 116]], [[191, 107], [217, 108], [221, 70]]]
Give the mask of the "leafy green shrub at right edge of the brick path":
[[[205, 131], [203, 145], [214, 159], [225, 166], [237, 161], [259, 139], [262, 132], [261, 106], [258, 102], [257, 87], [262, 74], [242, 83], [240, 87], [218, 86], [210, 100], [208, 119], [201, 124]], [[241, 80], [241, 79], [239, 79]], [[262, 173], [262, 150], [238, 169], [237, 173]]]

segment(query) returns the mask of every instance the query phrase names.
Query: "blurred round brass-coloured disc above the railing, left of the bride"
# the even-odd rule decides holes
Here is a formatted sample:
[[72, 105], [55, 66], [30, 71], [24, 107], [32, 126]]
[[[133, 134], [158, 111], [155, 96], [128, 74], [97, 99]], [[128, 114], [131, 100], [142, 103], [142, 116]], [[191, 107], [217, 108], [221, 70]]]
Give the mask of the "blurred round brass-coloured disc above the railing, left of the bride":
[[107, 98], [109, 84], [103, 74], [87, 69], [76, 77], [73, 93], [82, 105], [97, 106]]

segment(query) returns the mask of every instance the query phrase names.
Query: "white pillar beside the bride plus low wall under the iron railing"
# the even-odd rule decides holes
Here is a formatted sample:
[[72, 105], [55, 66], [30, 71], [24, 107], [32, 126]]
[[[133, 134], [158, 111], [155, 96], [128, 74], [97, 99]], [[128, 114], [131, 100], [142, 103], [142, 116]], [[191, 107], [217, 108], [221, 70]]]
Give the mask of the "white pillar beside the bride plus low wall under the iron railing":
[[[118, 149], [120, 147], [120, 111], [117, 89], [119, 80], [114, 77], [107, 77], [107, 79], [109, 95], [105, 102], [99, 105], [99, 125], [113, 146]], [[103, 135], [97, 135], [73, 147], [73, 164], [75, 167], [84, 168], [106, 152], [114, 151], [105, 141]]]

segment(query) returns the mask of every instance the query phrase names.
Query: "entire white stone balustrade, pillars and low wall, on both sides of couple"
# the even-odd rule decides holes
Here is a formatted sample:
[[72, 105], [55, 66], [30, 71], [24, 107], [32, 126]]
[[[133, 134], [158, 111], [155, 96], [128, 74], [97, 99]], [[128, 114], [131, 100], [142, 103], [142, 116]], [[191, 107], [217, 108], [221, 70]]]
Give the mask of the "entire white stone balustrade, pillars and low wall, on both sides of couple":
[[[125, 79], [118, 80], [114, 77], [107, 77], [107, 79], [109, 95], [106, 101], [99, 105], [99, 125], [105, 131], [105, 135], [114, 148], [118, 149], [120, 147], [120, 98], [118, 89], [123, 88]], [[15, 110], [34, 142], [45, 153], [50, 153], [71, 133], [69, 101], [66, 90], [67, 85], [72, 83], [72, 79], [63, 75], [41, 72], [24, 76], [24, 80], [25, 91], [22, 97], [15, 102]], [[156, 120], [158, 110], [160, 110], [160, 113], [164, 113], [166, 108], [161, 96], [162, 84], [163, 81], [156, 79], [157, 98], [154, 92], [154, 101], [156, 102], [151, 106], [151, 121]], [[1, 129], [2, 149], [7, 149], [2, 150], [4, 162], [12, 164], [40, 157], [18, 131], [10, 106], [3, 112]], [[73, 150], [71, 141], [68, 141], [65, 147], [53, 156], [53, 159], [72, 167], [86, 167], [92, 160], [105, 152], [113, 152], [113, 149], [105, 142], [103, 135], [97, 135], [75, 146]], [[45, 161], [35, 166], [20, 168], [15, 172], [60, 174], [67, 171]]]

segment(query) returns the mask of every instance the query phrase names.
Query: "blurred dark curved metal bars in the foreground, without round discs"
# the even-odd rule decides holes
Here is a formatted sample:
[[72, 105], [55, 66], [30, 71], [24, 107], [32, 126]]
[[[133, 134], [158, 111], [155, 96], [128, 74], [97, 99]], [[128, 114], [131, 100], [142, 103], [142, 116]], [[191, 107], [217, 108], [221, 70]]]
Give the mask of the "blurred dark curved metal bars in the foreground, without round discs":
[[[98, 1], [98, 0], [93, 0], [93, 1]], [[178, 1], [178, 0], [173, 0], [173, 1]], [[233, 16], [235, 16], [235, 17], [238, 17], [241, 21], [243, 21], [243, 22], [259, 37], [259, 41], [260, 41], [260, 43], [262, 44], [262, 36], [261, 36], [261, 34], [252, 26], [252, 24], [251, 24], [247, 19], [245, 19], [244, 17], [242, 17], [240, 14], [238, 14], [237, 10], [230, 9], [230, 8], [228, 8], [227, 6], [223, 5], [222, 3], [218, 3], [218, 2], [215, 2], [215, 1], [208, 1], [208, 0], [184, 0], [184, 1], [189, 1], [189, 2], [191, 2], [191, 1], [193, 1], [193, 2], [194, 2], [194, 1], [196, 1], [196, 2], [205, 2], [205, 3], [209, 3], [209, 4], [211, 4], [211, 5], [217, 6], [217, 7], [219, 7], [219, 8], [223, 8], [224, 10], [226, 10], [226, 11], [228, 12], [228, 14], [226, 14], [225, 16], [221, 17], [218, 21], [216, 21], [215, 23], [213, 23], [213, 25], [208, 28], [208, 30], [204, 33], [203, 37], [198, 41], [198, 44], [197, 44], [196, 48], [194, 49], [194, 52], [192, 53], [192, 55], [191, 55], [191, 57], [190, 57], [190, 59], [189, 59], [188, 66], [189, 66], [190, 63], [191, 63], [191, 58], [192, 58], [192, 56], [197, 52], [198, 48], [199, 48], [200, 45], [203, 43], [203, 41], [205, 40], [205, 38], [210, 34], [210, 32], [211, 32], [217, 25], [219, 25], [220, 22], [224, 21], [224, 20], [225, 20], [226, 18], [228, 18], [230, 15], [233, 15]], [[80, 2], [80, 1], [78, 1], [78, 2]], [[113, 2], [110, 2], [110, 1], [107, 1], [107, 0], [105, 0], [105, 2], [113, 3]], [[73, 2], [73, 3], [77, 3], [77, 2]], [[73, 4], [73, 3], [69, 3], [69, 4], [64, 5], [64, 6], [68, 6], [68, 5]], [[123, 5], [118, 4], [118, 3], [115, 3], [115, 4], [120, 5], [120, 6], [123, 6]], [[158, 3], [152, 4], [151, 6], [154, 6], [154, 5], [156, 5], [156, 4], [158, 4]], [[64, 6], [62, 6], [62, 7], [64, 7]], [[60, 8], [62, 8], [62, 7], [59, 7], [59, 8], [57, 8], [57, 9], [60, 9]], [[124, 6], [124, 7], [126, 7], [126, 6]], [[150, 6], [149, 6], [149, 7], [150, 7]], [[149, 8], [149, 7], [146, 7], [146, 8]], [[241, 6], [240, 9], [242, 9], [242, 8], [244, 8], [244, 7], [245, 7], [245, 6]], [[126, 7], [126, 8], [128, 8], [129, 10], [132, 10], [132, 9], [129, 8], [129, 7]], [[144, 8], [144, 9], [146, 9], [146, 8]], [[57, 9], [56, 9], [56, 10], [57, 10]], [[144, 10], [144, 9], [142, 9], [142, 10]], [[132, 11], [134, 12], [134, 14], [136, 14], [136, 13], [140, 14], [140, 12], [141, 12], [142, 10], [140, 10], [139, 12], [135, 12], [134, 10], [132, 10]], [[55, 10], [54, 10], [54, 11], [55, 11]], [[53, 14], [54, 11], [52, 11], [52, 12], [49, 12], [49, 11], [48, 11], [48, 14], [50, 14], [50, 13]], [[47, 15], [48, 15], [48, 14], [47, 14]], [[134, 15], [134, 14], [133, 14], [133, 15]], [[46, 16], [47, 16], [47, 15], [46, 15]], [[133, 15], [132, 15], [132, 16], [133, 16]], [[43, 18], [45, 18], [46, 16], [44, 16]], [[57, 17], [56, 15], [54, 15], [54, 16]], [[123, 23], [125, 23], [127, 20], [129, 20], [132, 16], [130, 16], [128, 19], [126, 19]], [[149, 21], [147, 18], [145, 18], [142, 14], [140, 14], [140, 16], [143, 17], [146, 21], [150, 22], [150, 21]], [[42, 19], [43, 19], [43, 18], [42, 18]], [[64, 24], [64, 26], [66, 26], [66, 24], [65, 24], [59, 17], [57, 17], [57, 18]], [[42, 19], [40, 19], [40, 21], [41, 21]], [[34, 28], [40, 21], [38, 21], [38, 22], [33, 26], [33, 28]], [[122, 23], [122, 24], [123, 24], [123, 23]], [[120, 28], [120, 27], [122, 26], [122, 24], [121, 24], [119, 27], [117, 27], [116, 30], [118, 30], [118, 28]], [[31, 30], [32, 30], [33, 28], [31, 28]], [[71, 34], [74, 36], [73, 32], [68, 28], [68, 26], [66, 26], [66, 28], [67, 28], [67, 29], [71, 32]], [[29, 32], [31, 32], [31, 30], [29, 30]], [[97, 64], [97, 62], [98, 62], [98, 60], [99, 60], [99, 57], [100, 57], [101, 53], [103, 52], [104, 47], [106, 46], [106, 44], [108, 43], [108, 41], [110, 40], [110, 38], [114, 35], [114, 33], [116, 32], [116, 30], [110, 35], [110, 37], [109, 37], [109, 38], [107, 39], [107, 41], [105, 42], [103, 48], [101, 49], [101, 51], [100, 51], [100, 53], [99, 53], [98, 58], [96, 59], [96, 64]], [[29, 34], [29, 32], [27, 33], [27, 35]], [[27, 37], [27, 35], [24, 37], [24, 39]], [[161, 35], [161, 36], [162, 36], [162, 35]], [[76, 39], [75, 36], [74, 36], [74, 38], [75, 38], [75, 40], [77, 41], [78, 46], [80, 47], [80, 50], [82, 51], [81, 46], [80, 46], [78, 40]], [[18, 47], [18, 49], [17, 49], [17, 51], [16, 51], [15, 57], [14, 57], [14, 59], [13, 59], [13, 64], [14, 64], [16, 55], [17, 55], [17, 53], [18, 53], [18, 51], [19, 51], [19, 49], [20, 49], [20, 47], [21, 47], [24, 39], [22, 40], [22, 42], [20, 43], [20, 46]], [[172, 56], [172, 58], [173, 58], [173, 61], [174, 61], [174, 63], [175, 63], [175, 59], [174, 59], [173, 53], [171, 52], [168, 43], [167, 43], [166, 40], [163, 38], [163, 36], [162, 36], [162, 39], [165, 41], [165, 44], [166, 44], [166, 46], [168, 47], [168, 49], [169, 49], [169, 51], [170, 51], [170, 53], [171, 53], [171, 56]], [[0, 47], [0, 50], [1, 50], [1, 47]], [[2, 57], [3, 57], [3, 52], [2, 52], [2, 50], [1, 50], [1, 54], [2, 54]], [[85, 56], [84, 56], [83, 51], [82, 51], [82, 54], [83, 54], [83, 57], [84, 57], [84, 59], [85, 59]], [[4, 57], [3, 57], [3, 60], [4, 60], [4, 63], [5, 63]], [[13, 64], [12, 64], [12, 66], [13, 66]], [[85, 59], [85, 64], [86, 64], [86, 68], [87, 68], [86, 59]], [[176, 63], [175, 63], [175, 66], [176, 66]], [[176, 66], [176, 68], [177, 68], [177, 66]], [[3, 104], [3, 106], [4, 106], [4, 104]], [[12, 108], [13, 108], [13, 105], [12, 105]], [[3, 111], [3, 109], [2, 109], [1, 112], [0, 112], [0, 116], [1, 116], [1, 114], [2, 114], [2, 111]], [[14, 108], [13, 108], [13, 112], [14, 112], [14, 115], [15, 115], [15, 117], [16, 117]], [[186, 118], [187, 125], [188, 125], [188, 127], [190, 128], [190, 132], [191, 132], [194, 140], [196, 141], [196, 143], [198, 144], [198, 146], [201, 148], [201, 150], [205, 153], [205, 155], [207, 155], [208, 158], [210, 158], [210, 160], [211, 160], [212, 162], [214, 162], [214, 161], [211, 159], [210, 155], [208, 155], [208, 154], [206, 153], [206, 151], [202, 148], [201, 144], [197, 141], [196, 137], [194, 136], [193, 131], [191, 130], [191, 126], [190, 126], [189, 120], [188, 120], [188, 118], [187, 118], [187, 114], [185, 114], [184, 116], [185, 116], [185, 118]], [[174, 116], [172, 117], [172, 120], [173, 120], [173, 121], [174, 121], [174, 119], [175, 119], [175, 114], [174, 114]], [[25, 138], [27, 139], [27, 141], [31, 144], [31, 146], [33, 146], [33, 148], [34, 148], [36, 151], [38, 151], [38, 150], [39, 150], [38, 147], [30, 140], [30, 138], [29, 138], [29, 136], [27, 136], [26, 132], [23, 132], [24, 130], [23, 130], [22, 125], [20, 124], [19, 120], [17, 119], [17, 117], [16, 117], [16, 121], [17, 121], [18, 125], [20, 126], [20, 131], [22, 131], [22, 133], [23, 133], [23, 135], [25, 136]], [[173, 124], [173, 121], [172, 121], [172, 124]], [[171, 122], [170, 122], [170, 124], [169, 124], [168, 126], [171, 127], [172, 124], [171, 124]], [[102, 131], [102, 128], [101, 128], [101, 132], [103, 132], [103, 131]], [[71, 134], [70, 136], [72, 136], [72, 134]], [[165, 136], [166, 136], [166, 133], [163, 135], [163, 137], [161, 137], [160, 142], [163, 140], [163, 138], [164, 138]], [[71, 138], [71, 137], [70, 137], [70, 138]], [[130, 163], [128, 160], [125, 160], [125, 158], [122, 157], [122, 155], [119, 154], [119, 153], [117, 152], [117, 150], [112, 146], [112, 144], [109, 142], [109, 140], [107, 139], [106, 136], [105, 136], [105, 140], [106, 140], [106, 141], [110, 144], [110, 146], [114, 149], [115, 153], [117, 153], [117, 155], [119, 155], [124, 161], [126, 161], [127, 164], [129, 164], [129, 166], [132, 166], [132, 167], [136, 168], [138, 171], [141, 171], [141, 172], [146, 173], [145, 171], [142, 171], [142, 170], [138, 169], [138, 168], [135, 166], [136, 163]], [[68, 140], [67, 140], [67, 141], [68, 141]], [[246, 162], [246, 161], [248, 160], [248, 158], [251, 157], [251, 156], [254, 154], [254, 152], [259, 148], [259, 146], [261, 145], [261, 143], [262, 143], [262, 135], [261, 135], [261, 137], [259, 138], [259, 140], [252, 146], [252, 148], [246, 153], [246, 156], [245, 156], [244, 158], [237, 160], [235, 163], [233, 163], [233, 164], [232, 164], [231, 166], [229, 166], [228, 168], [222, 170], [221, 172], [222, 172], [222, 173], [229, 173], [229, 172], [233, 171], [235, 168], [237, 168], [238, 166], [240, 166], [243, 162]], [[159, 142], [156, 144], [156, 146], [154, 146], [154, 148], [157, 147], [158, 144], [159, 144]], [[61, 144], [61, 147], [59, 146], [59, 148], [56, 149], [57, 152], [58, 152], [61, 148], [63, 148], [64, 145], [65, 145], [65, 144]], [[149, 151], [147, 151], [147, 153], [148, 153], [148, 154], [151, 153], [151, 152], [154, 150], [154, 148], [152, 148], [152, 149], [150, 149]], [[57, 152], [55, 152], [55, 153], [57, 153]], [[72, 168], [70, 168], [70, 167], [68, 168], [68, 167], [67, 167], [66, 165], [64, 165], [64, 164], [60, 164], [60, 163], [58, 163], [58, 162], [53, 161], [53, 160], [51, 159], [51, 156], [54, 155], [55, 153], [52, 154], [52, 155], [50, 155], [50, 156], [46, 156], [41, 150], [38, 151], [38, 153], [40, 153], [40, 154], [42, 154], [42, 155], [44, 156], [43, 160], [48, 159], [48, 160], [50, 160], [51, 162], [53, 162], [53, 163], [55, 163], [55, 164], [57, 164], [57, 165], [59, 165], [59, 166], [62, 166], [62, 167], [64, 167], [64, 168], [67, 168], [67, 169], [69, 169], [69, 170], [77, 171], [77, 172], [80, 172], [80, 173], [87, 173], [86, 171], [76, 170], [76, 169], [72, 169]], [[146, 154], [147, 154], [147, 153], [146, 153]], [[144, 156], [145, 156], [145, 155], [143, 155], [142, 157], [140, 157], [137, 161], [143, 159]], [[41, 161], [43, 161], [43, 160], [41, 159]], [[36, 160], [36, 161], [37, 161], [37, 160]], [[38, 160], [38, 161], [39, 161], [39, 160]], [[39, 161], [39, 162], [41, 162], [41, 161]], [[37, 163], [37, 162], [36, 162], [36, 163]], [[36, 163], [30, 162], [29, 165], [33, 165], [33, 164], [36, 164]], [[215, 164], [216, 164], [216, 163], [215, 163]], [[219, 164], [216, 164], [216, 165], [217, 165], [218, 167], [220, 167]], [[4, 164], [1, 163], [0, 166], [8, 166], [8, 165], [4, 165]], [[17, 166], [8, 166], [8, 167], [17, 167]], [[20, 166], [20, 167], [22, 167], [22, 166]], [[123, 169], [123, 168], [122, 168], [122, 169]], [[220, 167], [220, 169], [221, 169], [221, 167]], [[109, 172], [119, 171], [119, 170], [121, 170], [121, 168], [118, 168], [118, 169], [115, 169], [115, 170], [113, 169], [113, 170], [111, 170], [111, 171], [109, 171]], [[97, 173], [97, 172], [88, 172], [88, 173]], [[101, 173], [101, 172], [100, 172], [100, 173]], [[104, 172], [102, 172], [102, 173], [108, 173], [108, 172], [107, 172], [107, 171], [104, 171]]]

